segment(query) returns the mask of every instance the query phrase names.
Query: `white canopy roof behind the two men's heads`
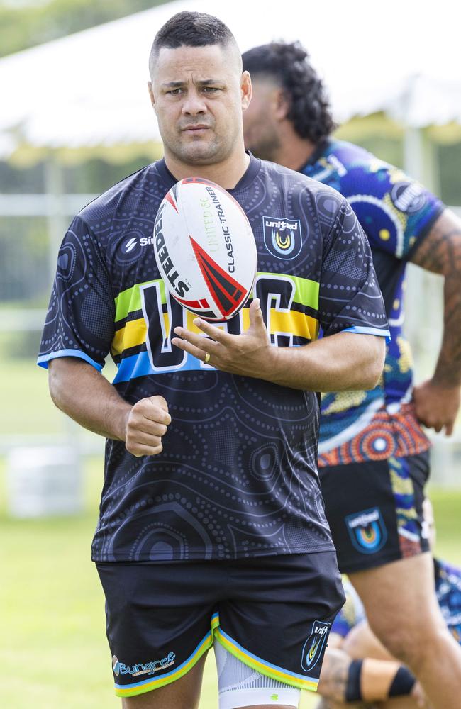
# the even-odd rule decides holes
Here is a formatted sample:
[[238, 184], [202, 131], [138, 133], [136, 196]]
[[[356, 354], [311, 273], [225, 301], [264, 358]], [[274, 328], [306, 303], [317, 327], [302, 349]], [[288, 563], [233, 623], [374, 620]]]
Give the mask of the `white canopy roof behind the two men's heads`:
[[0, 60], [0, 155], [21, 143], [159, 140], [148, 55], [184, 9], [221, 18], [242, 51], [301, 40], [338, 121], [384, 111], [414, 127], [461, 123], [461, 11], [451, 0], [177, 0]]

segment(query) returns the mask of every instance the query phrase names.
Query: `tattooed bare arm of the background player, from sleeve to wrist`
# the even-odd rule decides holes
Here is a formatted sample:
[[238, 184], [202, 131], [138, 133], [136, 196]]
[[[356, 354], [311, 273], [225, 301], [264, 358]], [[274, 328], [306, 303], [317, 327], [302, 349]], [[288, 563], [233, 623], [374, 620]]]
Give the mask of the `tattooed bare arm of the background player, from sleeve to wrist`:
[[440, 386], [460, 385], [461, 220], [445, 209], [411, 260], [445, 277], [443, 340], [433, 380]]

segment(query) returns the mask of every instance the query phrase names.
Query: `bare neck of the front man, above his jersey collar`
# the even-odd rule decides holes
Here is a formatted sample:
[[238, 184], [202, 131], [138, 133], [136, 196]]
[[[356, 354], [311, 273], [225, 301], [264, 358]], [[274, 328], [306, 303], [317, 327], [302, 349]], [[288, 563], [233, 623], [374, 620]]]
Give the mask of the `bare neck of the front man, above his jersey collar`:
[[184, 177], [203, 177], [216, 182], [224, 189], [233, 189], [248, 169], [250, 156], [242, 150], [238, 155], [234, 153], [223, 162], [200, 165], [184, 163], [165, 152], [165, 164], [178, 181]]

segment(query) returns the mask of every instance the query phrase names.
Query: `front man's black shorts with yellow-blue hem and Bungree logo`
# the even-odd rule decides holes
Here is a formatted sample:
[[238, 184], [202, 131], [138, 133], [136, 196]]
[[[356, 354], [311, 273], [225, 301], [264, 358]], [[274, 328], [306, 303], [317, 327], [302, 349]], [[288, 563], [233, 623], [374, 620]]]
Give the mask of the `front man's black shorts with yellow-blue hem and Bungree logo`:
[[316, 690], [344, 603], [335, 552], [96, 566], [116, 695], [179, 679], [213, 640], [261, 674]]

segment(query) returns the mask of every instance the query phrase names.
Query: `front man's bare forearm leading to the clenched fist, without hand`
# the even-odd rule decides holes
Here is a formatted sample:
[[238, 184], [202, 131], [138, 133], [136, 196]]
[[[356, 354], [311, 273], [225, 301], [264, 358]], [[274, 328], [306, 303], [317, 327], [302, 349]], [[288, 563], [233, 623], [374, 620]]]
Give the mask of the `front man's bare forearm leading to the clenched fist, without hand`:
[[125, 440], [131, 406], [99, 372], [77, 357], [52, 359], [51, 398], [81, 426], [106, 438]]

